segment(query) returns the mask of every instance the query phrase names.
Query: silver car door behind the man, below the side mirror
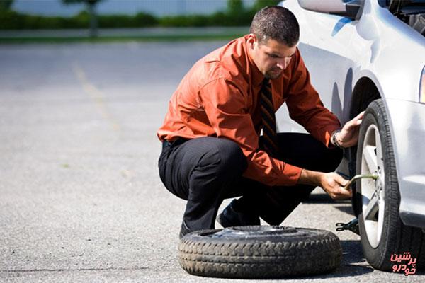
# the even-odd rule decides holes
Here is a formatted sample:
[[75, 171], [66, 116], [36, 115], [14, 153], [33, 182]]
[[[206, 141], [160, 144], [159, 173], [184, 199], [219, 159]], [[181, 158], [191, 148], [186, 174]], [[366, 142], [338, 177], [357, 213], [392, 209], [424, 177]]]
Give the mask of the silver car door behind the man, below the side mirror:
[[[319, 92], [324, 105], [346, 122], [349, 115], [353, 68], [351, 37], [356, 31], [356, 22], [343, 16], [307, 11], [297, 0], [280, 3], [297, 17], [300, 23], [299, 48], [312, 85]], [[290, 120], [288, 110], [281, 108], [276, 113], [280, 132], [305, 132]]]

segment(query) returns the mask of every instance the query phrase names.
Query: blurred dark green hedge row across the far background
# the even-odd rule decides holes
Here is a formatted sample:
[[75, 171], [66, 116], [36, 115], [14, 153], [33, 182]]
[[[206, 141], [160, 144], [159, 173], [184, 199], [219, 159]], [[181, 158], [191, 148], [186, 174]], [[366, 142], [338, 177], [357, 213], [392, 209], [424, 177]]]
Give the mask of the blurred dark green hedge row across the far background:
[[[86, 3], [86, 10], [76, 16], [34, 16], [11, 10], [13, 0], [0, 0], [0, 30], [33, 30], [62, 28], [91, 28], [96, 36], [97, 28], [145, 28], [145, 27], [205, 27], [244, 26], [251, 23], [254, 14], [264, 6], [275, 6], [279, 1], [256, 0], [252, 6], [244, 6], [242, 0], [227, 0], [224, 11], [210, 14], [186, 14], [155, 16], [143, 11], [135, 15], [111, 14], [96, 16], [96, 6], [104, 0], [62, 0], [67, 4]], [[202, 1], [202, 0], [200, 0]]]

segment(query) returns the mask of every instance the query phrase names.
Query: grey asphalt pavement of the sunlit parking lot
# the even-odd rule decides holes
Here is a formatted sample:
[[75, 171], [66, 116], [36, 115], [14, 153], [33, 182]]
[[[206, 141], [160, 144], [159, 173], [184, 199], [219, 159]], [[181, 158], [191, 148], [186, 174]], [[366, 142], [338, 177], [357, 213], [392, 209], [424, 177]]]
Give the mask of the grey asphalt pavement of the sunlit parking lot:
[[[185, 202], [157, 173], [171, 94], [224, 43], [0, 45], [0, 282], [251, 282], [179, 267]], [[352, 218], [318, 189], [283, 225]], [[285, 282], [424, 282], [373, 270], [356, 234], [335, 233], [338, 270]]]

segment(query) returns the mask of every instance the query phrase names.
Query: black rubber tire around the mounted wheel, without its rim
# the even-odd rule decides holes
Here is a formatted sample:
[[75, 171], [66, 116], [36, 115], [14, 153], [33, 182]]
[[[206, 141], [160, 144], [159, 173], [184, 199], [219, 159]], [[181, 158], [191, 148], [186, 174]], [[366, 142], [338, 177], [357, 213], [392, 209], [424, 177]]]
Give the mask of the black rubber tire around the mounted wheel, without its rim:
[[[416, 258], [416, 269], [424, 269], [425, 266], [425, 237], [421, 229], [405, 226], [399, 217], [400, 194], [395, 167], [394, 149], [390, 133], [390, 125], [385, 110], [385, 104], [381, 99], [375, 100], [366, 109], [363, 122], [360, 128], [357, 150], [357, 174], [361, 173], [361, 158], [363, 154], [363, 143], [365, 132], [375, 125], [378, 127], [382, 143], [382, 156], [384, 158], [385, 173], [385, 212], [382, 226], [380, 243], [377, 248], [373, 248], [366, 235], [365, 223], [363, 219], [362, 200], [359, 199], [358, 224], [361, 235], [361, 245], [366, 260], [378, 270], [392, 270], [394, 262], [390, 258], [392, 253], [402, 254], [410, 252], [412, 258]], [[361, 195], [361, 183], [357, 183], [357, 192]]]

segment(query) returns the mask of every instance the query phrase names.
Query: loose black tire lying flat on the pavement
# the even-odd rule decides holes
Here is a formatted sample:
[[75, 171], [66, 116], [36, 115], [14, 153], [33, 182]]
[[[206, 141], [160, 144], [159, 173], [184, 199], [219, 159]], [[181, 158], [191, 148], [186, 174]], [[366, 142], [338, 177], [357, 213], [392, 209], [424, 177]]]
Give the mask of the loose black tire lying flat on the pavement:
[[188, 233], [179, 262], [192, 275], [281, 278], [329, 272], [341, 264], [339, 238], [329, 231], [239, 226]]

